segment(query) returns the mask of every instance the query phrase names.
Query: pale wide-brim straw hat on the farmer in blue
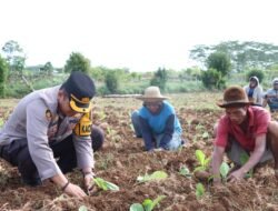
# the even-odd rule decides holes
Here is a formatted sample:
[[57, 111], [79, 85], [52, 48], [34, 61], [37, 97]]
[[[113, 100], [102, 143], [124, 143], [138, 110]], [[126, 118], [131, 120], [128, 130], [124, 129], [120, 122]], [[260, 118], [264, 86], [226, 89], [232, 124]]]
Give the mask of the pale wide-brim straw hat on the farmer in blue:
[[142, 96], [137, 97], [138, 100], [142, 100], [143, 102], [157, 102], [169, 99], [160, 93], [158, 87], [148, 87]]

